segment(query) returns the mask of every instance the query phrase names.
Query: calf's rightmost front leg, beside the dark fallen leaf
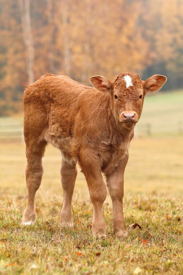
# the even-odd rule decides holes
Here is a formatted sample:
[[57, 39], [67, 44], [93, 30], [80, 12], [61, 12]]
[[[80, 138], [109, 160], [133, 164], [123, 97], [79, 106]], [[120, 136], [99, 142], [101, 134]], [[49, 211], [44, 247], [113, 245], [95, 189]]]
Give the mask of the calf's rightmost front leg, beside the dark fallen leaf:
[[127, 228], [123, 214], [124, 169], [128, 161], [128, 154], [124, 156], [118, 167], [106, 174], [107, 186], [113, 202], [113, 230], [116, 236], [126, 237]]

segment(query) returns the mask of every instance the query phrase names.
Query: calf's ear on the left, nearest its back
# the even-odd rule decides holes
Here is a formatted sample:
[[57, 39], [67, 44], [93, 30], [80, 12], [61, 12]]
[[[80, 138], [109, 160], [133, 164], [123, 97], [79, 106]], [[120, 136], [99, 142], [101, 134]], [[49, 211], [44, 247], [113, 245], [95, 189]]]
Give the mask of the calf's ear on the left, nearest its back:
[[113, 82], [102, 75], [91, 76], [90, 83], [100, 92], [108, 92], [113, 85]]

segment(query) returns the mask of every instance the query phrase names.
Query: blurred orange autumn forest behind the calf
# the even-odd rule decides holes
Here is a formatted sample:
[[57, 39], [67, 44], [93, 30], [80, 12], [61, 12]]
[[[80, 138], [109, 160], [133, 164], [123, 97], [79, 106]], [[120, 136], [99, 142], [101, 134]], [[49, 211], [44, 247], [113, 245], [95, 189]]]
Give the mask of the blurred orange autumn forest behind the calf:
[[182, 0], [0, 0], [0, 115], [45, 73], [89, 85], [122, 71], [183, 86]]

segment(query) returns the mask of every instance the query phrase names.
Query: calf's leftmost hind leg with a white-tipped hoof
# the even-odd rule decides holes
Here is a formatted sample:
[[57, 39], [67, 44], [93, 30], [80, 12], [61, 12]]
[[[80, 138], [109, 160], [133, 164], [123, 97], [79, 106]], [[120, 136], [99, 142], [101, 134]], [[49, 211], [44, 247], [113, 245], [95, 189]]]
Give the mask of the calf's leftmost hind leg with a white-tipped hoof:
[[26, 185], [28, 189], [27, 207], [23, 213], [22, 225], [34, 224], [36, 218], [35, 195], [43, 174], [42, 157], [44, 156], [47, 142], [26, 144], [27, 168], [25, 171]]

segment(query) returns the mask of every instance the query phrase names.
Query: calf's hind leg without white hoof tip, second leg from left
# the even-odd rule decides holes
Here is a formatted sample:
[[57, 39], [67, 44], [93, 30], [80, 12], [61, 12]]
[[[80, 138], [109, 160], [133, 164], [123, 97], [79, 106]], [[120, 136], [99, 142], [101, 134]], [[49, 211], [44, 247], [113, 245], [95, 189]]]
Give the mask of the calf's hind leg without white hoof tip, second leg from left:
[[63, 187], [63, 207], [60, 212], [60, 225], [73, 226], [73, 215], [71, 211], [71, 201], [74, 192], [74, 185], [77, 176], [76, 162], [62, 160], [61, 181]]

